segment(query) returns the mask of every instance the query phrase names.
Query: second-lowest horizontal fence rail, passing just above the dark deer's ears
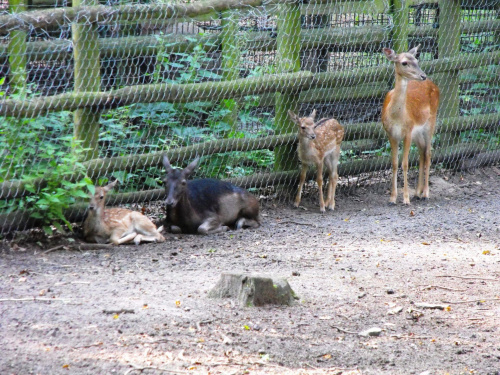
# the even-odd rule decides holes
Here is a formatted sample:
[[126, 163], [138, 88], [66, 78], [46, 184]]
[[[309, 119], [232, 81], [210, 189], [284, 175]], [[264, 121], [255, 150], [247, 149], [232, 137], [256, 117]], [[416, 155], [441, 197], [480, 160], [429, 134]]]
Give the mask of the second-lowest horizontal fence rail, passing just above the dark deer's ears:
[[[458, 118], [448, 118], [439, 121], [437, 133], [460, 132], [473, 129], [498, 129], [500, 128], [500, 113], [490, 115], [477, 115]], [[345, 126], [345, 141], [356, 141], [360, 139], [385, 139], [385, 131], [379, 122], [349, 124]], [[262, 149], [274, 149], [275, 147], [292, 144], [297, 141], [296, 134], [285, 134], [261, 138], [223, 139], [199, 143], [193, 146], [182, 147], [169, 151], [155, 152], [149, 154], [138, 154], [120, 156], [106, 159], [94, 159], [83, 163], [89, 177], [96, 178], [110, 174], [115, 171], [132, 172], [136, 169], [147, 169], [161, 166], [161, 158], [166, 153], [172, 163], [193, 159], [196, 155], [211, 155], [221, 152], [253, 151]], [[345, 143], [347, 143], [345, 142]], [[351, 145], [345, 144], [344, 150]], [[353, 147], [356, 149], [356, 147]], [[74, 176], [76, 180], [79, 176]], [[37, 189], [44, 186], [43, 179], [30, 182]], [[26, 195], [26, 181], [6, 181], [0, 184], [0, 199], [19, 198]]]

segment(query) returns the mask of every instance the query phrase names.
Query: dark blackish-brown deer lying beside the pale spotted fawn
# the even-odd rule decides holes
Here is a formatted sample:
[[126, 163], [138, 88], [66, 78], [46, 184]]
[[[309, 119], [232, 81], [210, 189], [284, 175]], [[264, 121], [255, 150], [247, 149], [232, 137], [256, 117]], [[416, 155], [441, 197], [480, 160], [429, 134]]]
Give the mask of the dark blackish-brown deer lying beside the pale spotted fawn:
[[210, 234], [229, 227], [257, 228], [260, 225], [259, 202], [248, 191], [215, 179], [188, 181], [199, 158], [186, 168], [173, 169], [167, 156], [165, 226], [173, 233]]

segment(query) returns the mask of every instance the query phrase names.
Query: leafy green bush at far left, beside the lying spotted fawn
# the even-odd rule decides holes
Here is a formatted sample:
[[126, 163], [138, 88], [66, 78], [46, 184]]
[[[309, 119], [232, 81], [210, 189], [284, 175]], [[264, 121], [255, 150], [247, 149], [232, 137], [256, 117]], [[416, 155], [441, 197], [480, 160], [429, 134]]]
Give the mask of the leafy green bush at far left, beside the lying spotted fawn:
[[[61, 224], [72, 229], [63, 211], [77, 200], [87, 198], [93, 185], [85, 177], [85, 168], [79, 162], [84, 150], [71, 134], [69, 112], [33, 119], [0, 119], [0, 183], [22, 181], [32, 194], [0, 200], [0, 210], [27, 209], [32, 217], [43, 222], [47, 233], [52, 233], [51, 225], [61, 231]], [[75, 175], [79, 176], [76, 182]], [[39, 187], [41, 180], [46, 184]]]

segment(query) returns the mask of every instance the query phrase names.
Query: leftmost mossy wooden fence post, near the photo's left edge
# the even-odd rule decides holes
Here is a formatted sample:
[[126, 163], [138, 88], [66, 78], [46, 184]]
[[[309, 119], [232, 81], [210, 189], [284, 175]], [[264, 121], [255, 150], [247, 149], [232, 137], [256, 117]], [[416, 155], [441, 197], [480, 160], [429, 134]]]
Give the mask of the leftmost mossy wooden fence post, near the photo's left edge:
[[[27, 9], [26, 0], [10, 0], [9, 11], [11, 13], [23, 12]], [[9, 85], [11, 93], [21, 94], [26, 93], [26, 38], [27, 32], [24, 30], [12, 30], [10, 32], [10, 40], [8, 45], [9, 51], [9, 68], [10, 77]]]

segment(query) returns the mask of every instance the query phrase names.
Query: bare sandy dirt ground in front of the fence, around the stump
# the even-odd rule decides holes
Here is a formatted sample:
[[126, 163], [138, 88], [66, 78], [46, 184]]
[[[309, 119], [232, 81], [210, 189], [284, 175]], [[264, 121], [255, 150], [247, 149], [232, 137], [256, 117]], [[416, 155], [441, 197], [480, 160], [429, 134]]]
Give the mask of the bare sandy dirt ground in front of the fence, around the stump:
[[[386, 183], [340, 189], [324, 215], [315, 194], [262, 200], [259, 229], [138, 247], [18, 233], [0, 243], [0, 373], [500, 374], [499, 186], [490, 167], [435, 175], [409, 207]], [[299, 299], [209, 299], [225, 271]]]

